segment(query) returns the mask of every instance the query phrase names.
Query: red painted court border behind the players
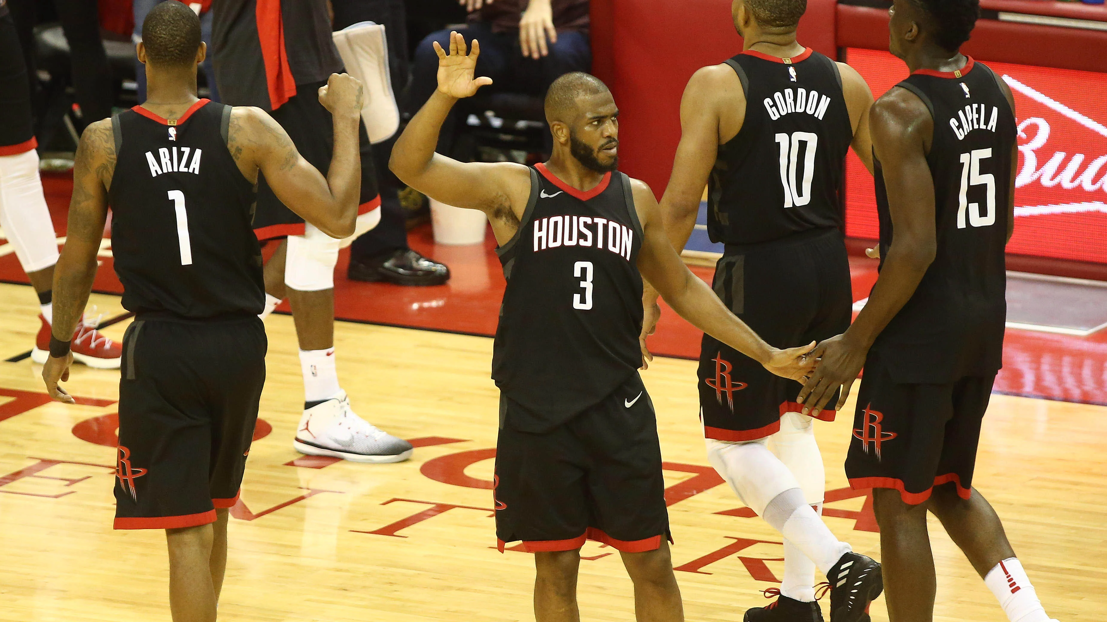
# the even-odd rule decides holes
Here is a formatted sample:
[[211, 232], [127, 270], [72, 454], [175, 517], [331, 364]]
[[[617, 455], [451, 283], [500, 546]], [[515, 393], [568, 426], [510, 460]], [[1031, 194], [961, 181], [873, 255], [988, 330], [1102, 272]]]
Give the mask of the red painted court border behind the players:
[[[59, 236], [64, 236], [65, 210], [72, 193], [69, 175], [43, 175], [46, 200]], [[384, 283], [362, 283], [345, 278], [349, 250], [343, 250], [335, 270], [334, 313], [340, 320], [413, 329], [493, 335], [504, 293], [504, 276], [493, 249], [489, 231], [484, 246], [435, 245], [428, 225], [411, 231], [412, 248], [449, 266], [452, 278], [437, 287], [413, 288]], [[112, 259], [102, 259], [94, 288], [121, 293], [112, 270]], [[877, 279], [876, 260], [851, 259], [853, 300], [869, 296]], [[710, 268], [692, 268], [711, 281]], [[0, 257], [0, 280], [27, 282], [13, 253]], [[283, 303], [279, 311], [289, 311]], [[700, 353], [700, 331], [663, 305], [658, 333], [650, 340], [654, 354], [695, 359]], [[6, 354], [17, 354], [15, 352]], [[1012, 395], [1107, 404], [1107, 330], [1088, 336], [1069, 336], [1008, 329], [1004, 343], [1004, 367], [995, 391]]]

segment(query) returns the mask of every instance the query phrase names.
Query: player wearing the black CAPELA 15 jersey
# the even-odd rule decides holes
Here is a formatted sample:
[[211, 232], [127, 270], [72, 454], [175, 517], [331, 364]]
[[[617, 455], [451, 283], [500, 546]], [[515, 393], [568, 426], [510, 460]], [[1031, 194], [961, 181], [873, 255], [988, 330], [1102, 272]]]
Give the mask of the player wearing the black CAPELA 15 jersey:
[[804, 387], [817, 414], [865, 366], [846, 474], [876, 488], [892, 622], [929, 622], [927, 510], [1014, 622], [1049, 620], [992, 506], [972, 488], [981, 419], [1003, 351], [1004, 246], [1014, 230], [1014, 99], [960, 52], [977, 0], [896, 0], [890, 49], [911, 76], [880, 97], [871, 133], [880, 278]]

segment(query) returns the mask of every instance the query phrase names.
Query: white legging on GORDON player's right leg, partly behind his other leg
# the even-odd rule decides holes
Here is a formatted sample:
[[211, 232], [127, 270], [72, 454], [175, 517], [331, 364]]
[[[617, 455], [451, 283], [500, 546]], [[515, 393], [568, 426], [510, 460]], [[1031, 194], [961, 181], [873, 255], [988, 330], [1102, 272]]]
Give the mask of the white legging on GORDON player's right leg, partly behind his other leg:
[[[815, 440], [814, 419], [799, 413], [785, 413], [780, 417], [780, 431], [768, 437], [768, 448], [796, 476], [804, 499], [821, 516], [826, 471]], [[780, 593], [800, 602], [814, 602], [815, 582], [815, 562], [785, 539]]]

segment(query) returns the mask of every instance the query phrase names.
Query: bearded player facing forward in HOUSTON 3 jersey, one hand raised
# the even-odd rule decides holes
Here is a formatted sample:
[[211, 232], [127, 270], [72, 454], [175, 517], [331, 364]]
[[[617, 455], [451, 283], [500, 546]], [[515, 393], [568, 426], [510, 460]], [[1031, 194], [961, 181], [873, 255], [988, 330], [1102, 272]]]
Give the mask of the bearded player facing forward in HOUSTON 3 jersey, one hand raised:
[[[645, 184], [618, 173], [618, 108], [584, 73], [546, 95], [554, 154], [546, 164], [463, 164], [435, 154], [442, 122], [474, 80], [451, 35], [435, 44], [438, 90], [392, 151], [392, 170], [443, 203], [488, 215], [507, 290], [493, 377], [500, 388], [496, 532], [500, 547], [535, 553], [535, 616], [576, 621], [577, 570], [586, 539], [622, 553], [638, 619], [683, 619], [669, 554], [661, 450], [642, 364], [642, 276], [705, 332], [799, 377], [807, 348], [767, 345], [692, 274], [664, 235]], [[639, 273], [641, 270], [641, 274]]]

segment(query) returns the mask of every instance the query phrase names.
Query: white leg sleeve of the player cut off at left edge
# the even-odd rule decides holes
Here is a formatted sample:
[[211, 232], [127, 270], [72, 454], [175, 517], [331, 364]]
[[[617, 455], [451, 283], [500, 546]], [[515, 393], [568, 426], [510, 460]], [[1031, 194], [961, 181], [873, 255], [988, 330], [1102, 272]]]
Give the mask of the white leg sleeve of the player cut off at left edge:
[[58, 263], [58, 238], [39, 179], [39, 154], [0, 156], [0, 228], [27, 272]]

